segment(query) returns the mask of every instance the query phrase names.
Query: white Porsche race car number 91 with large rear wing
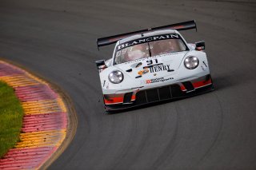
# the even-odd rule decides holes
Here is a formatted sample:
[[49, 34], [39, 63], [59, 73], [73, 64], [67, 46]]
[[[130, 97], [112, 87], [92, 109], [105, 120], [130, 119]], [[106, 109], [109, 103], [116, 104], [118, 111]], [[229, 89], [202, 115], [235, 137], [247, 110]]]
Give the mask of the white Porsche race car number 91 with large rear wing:
[[205, 42], [178, 32], [196, 28], [190, 21], [99, 38], [98, 47], [116, 42], [111, 59], [96, 61], [106, 112], [213, 90]]

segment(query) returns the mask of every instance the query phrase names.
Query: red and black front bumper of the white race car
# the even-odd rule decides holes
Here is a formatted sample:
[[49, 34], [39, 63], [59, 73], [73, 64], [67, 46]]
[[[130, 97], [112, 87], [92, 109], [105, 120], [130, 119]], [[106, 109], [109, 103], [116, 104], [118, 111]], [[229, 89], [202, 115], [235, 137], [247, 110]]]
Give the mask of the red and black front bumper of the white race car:
[[106, 112], [114, 112], [141, 105], [149, 105], [155, 102], [191, 97], [210, 92], [213, 89], [214, 85], [210, 74], [208, 74], [191, 81], [182, 81], [158, 88], [136, 90], [122, 94], [105, 94], [103, 98]]

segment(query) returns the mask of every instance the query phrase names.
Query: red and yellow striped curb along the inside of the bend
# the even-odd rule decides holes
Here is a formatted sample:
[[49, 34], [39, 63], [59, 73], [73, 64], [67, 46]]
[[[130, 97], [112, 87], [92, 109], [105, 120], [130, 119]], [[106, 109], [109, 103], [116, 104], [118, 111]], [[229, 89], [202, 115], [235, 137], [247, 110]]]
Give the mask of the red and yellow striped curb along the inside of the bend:
[[0, 169], [38, 169], [66, 137], [66, 107], [45, 81], [4, 61], [0, 80], [14, 88], [24, 110], [20, 140], [0, 160]]

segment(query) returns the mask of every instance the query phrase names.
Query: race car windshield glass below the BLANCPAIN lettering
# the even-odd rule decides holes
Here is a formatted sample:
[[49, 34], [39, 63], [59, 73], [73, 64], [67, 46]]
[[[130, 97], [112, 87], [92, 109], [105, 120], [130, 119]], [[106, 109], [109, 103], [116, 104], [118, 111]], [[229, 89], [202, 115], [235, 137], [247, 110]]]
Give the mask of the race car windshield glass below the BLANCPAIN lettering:
[[[154, 39], [154, 37], [151, 39]], [[140, 39], [137, 42], [143, 41]], [[163, 39], [154, 42], [145, 41], [145, 43], [129, 45], [130, 43], [118, 45], [114, 56], [115, 64], [122, 64], [124, 62], [134, 61], [145, 57], [186, 50], [186, 45], [180, 38]]]

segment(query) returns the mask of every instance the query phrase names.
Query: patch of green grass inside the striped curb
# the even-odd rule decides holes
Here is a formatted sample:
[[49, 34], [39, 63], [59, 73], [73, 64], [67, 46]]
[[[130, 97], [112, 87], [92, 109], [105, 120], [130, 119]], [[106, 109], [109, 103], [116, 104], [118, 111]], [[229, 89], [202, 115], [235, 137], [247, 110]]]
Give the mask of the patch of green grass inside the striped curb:
[[14, 89], [0, 81], [0, 157], [19, 140], [23, 109]]

